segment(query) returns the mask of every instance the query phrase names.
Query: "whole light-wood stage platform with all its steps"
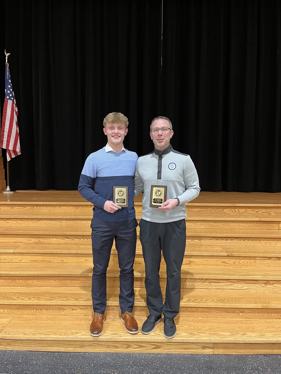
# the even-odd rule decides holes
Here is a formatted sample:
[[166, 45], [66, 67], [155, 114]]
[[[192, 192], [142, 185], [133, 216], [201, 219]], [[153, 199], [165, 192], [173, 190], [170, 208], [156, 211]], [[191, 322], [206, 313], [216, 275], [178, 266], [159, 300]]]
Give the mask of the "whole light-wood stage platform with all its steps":
[[[115, 247], [104, 331], [90, 336], [92, 207], [78, 191], [0, 194], [0, 349], [281, 353], [281, 193], [201, 192], [187, 204], [173, 339], [163, 323], [149, 335], [125, 331]], [[141, 196], [135, 209], [139, 220]], [[134, 269], [141, 327], [148, 311], [139, 237]], [[164, 261], [160, 277], [164, 292]]]

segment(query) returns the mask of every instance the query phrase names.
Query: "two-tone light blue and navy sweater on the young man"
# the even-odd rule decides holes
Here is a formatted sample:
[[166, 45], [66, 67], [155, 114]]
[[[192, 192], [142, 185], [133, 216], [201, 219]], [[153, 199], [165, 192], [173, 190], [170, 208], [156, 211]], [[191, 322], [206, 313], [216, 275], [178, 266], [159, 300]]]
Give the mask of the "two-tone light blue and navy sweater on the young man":
[[[94, 204], [94, 220], [119, 222], [136, 217], [133, 177], [137, 160], [138, 155], [135, 152], [106, 152], [105, 147], [88, 156], [80, 176], [78, 191]], [[109, 213], [103, 206], [107, 200], [112, 201], [113, 186], [128, 186], [128, 208]]]

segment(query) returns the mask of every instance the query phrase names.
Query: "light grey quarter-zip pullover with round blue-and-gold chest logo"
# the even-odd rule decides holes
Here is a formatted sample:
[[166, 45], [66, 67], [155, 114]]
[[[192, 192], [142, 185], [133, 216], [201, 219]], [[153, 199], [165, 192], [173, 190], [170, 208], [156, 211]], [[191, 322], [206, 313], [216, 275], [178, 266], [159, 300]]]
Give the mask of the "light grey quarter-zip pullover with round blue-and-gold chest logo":
[[[168, 199], [178, 199], [171, 211], [160, 211], [149, 207], [151, 185], [167, 186]], [[134, 177], [135, 195], [143, 191], [142, 219], [167, 223], [187, 217], [185, 204], [199, 195], [199, 179], [195, 166], [188, 154], [173, 150], [169, 145], [163, 151], [141, 156], [136, 164]]]

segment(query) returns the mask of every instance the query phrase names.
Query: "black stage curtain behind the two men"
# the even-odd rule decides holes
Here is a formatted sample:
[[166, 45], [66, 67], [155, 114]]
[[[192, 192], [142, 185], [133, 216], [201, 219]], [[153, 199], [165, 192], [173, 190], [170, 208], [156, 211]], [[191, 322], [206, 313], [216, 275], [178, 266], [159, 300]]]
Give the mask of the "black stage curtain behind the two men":
[[[202, 190], [281, 191], [280, 0], [164, 0], [162, 71], [162, 0], [0, 7], [22, 149], [12, 188], [76, 189], [103, 118], [121, 111], [139, 156], [151, 119], [169, 117]], [[4, 53], [1, 71], [4, 88]]]

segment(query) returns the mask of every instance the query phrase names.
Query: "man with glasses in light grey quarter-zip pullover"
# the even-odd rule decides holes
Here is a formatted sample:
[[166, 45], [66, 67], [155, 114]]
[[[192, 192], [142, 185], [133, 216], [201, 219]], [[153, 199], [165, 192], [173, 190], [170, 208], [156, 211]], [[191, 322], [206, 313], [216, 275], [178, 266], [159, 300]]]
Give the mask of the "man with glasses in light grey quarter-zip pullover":
[[[176, 335], [174, 318], [179, 313], [181, 266], [186, 244], [185, 204], [195, 199], [200, 191], [198, 175], [190, 156], [173, 150], [170, 145], [172, 136], [172, 123], [167, 117], [152, 120], [150, 137], [155, 148], [153, 152], [139, 157], [134, 177], [135, 194], [143, 191], [139, 236], [145, 262], [149, 316], [142, 325], [142, 333], [154, 331], [163, 313], [166, 338]], [[158, 207], [150, 207], [151, 186], [167, 186], [166, 201]], [[161, 251], [167, 269], [164, 304], [159, 280]]]

